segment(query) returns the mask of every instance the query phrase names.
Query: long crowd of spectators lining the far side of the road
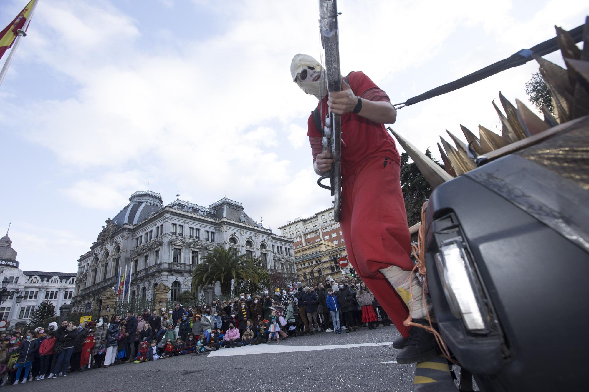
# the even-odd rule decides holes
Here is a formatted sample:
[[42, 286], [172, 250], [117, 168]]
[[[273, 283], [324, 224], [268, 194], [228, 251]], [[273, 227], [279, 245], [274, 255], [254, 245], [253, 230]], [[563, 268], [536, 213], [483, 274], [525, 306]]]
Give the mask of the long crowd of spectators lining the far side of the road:
[[78, 325], [62, 321], [0, 335], [0, 385], [65, 377], [72, 371], [210, 353], [302, 334], [358, 331], [391, 321], [362, 281], [328, 278], [317, 286], [297, 282], [261, 295], [173, 309], [144, 309]]

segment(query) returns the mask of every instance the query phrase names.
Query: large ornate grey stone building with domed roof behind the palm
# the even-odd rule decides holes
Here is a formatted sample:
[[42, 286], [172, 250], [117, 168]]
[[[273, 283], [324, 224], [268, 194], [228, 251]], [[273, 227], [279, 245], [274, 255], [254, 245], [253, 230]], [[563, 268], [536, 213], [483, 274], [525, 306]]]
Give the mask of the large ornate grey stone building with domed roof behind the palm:
[[164, 283], [171, 287], [168, 297], [175, 300], [182, 291], [193, 290], [192, 271], [219, 244], [262, 258], [270, 271], [296, 273], [292, 240], [254, 221], [241, 203], [223, 198], [203, 207], [177, 196], [164, 205], [160, 194], [137, 191], [123, 210], [106, 221], [90, 251], [78, 259], [75, 310], [90, 310], [98, 295], [114, 287], [120, 271], [131, 264], [132, 298], [151, 300], [157, 285]]

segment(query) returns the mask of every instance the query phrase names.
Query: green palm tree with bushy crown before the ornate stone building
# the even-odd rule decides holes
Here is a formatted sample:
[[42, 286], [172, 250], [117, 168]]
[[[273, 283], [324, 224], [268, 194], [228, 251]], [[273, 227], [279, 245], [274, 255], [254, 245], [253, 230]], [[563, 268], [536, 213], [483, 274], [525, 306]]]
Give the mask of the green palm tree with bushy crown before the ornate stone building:
[[256, 265], [235, 248], [225, 249], [221, 245], [202, 258], [192, 274], [192, 287], [203, 287], [221, 283], [221, 293], [231, 295], [231, 280], [241, 278], [257, 284]]

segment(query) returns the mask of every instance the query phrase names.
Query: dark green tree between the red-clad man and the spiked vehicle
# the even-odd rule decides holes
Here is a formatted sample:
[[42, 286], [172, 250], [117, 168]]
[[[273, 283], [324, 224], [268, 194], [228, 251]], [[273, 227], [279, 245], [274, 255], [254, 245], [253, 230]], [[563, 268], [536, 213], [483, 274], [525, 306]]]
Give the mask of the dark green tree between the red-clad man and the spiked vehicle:
[[[425, 150], [425, 155], [440, 165], [438, 161], [434, 160], [429, 147]], [[444, 165], [440, 166], [444, 167]], [[421, 221], [421, 207], [431, 194], [432, 188], [421, 174], [421, 171], [419, 171], [417, 165], [414, 162], [409, 163], [409, 154], [406, 152], [401, 154], [401, 190], [405, 201], [407, 224], [411, 227]]]

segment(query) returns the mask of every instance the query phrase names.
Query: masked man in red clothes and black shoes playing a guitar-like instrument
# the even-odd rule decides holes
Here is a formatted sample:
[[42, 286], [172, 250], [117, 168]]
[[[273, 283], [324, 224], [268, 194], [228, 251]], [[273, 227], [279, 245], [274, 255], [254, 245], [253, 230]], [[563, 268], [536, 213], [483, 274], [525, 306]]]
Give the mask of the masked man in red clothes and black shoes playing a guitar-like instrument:
[[[422, 328], [403, 325], [411, 307], [413, 321], [427, 324], [423, 298], [415, 275], [411, 236], [401, 191], [400, 159], [384, 123], [392, 124], [396, 110], [388, 95], [363, 72], [350, 72], [342, 91], [327, 94], [325, 71], [309, 55], [294, 56], [293, 81], [319, 99], [322, 126], [329, 111], [342, 119], [342, 211], [340, 226], [352, 266], [401, 333], [393, 346], [402, 348], [398, 363], [414, 363], [438, 355], [434, 335]], [[329, 152], [322, 151], [322, 135], [313, 115], [308, 121], [313, 168], [322, 175], [332, 168]]]

